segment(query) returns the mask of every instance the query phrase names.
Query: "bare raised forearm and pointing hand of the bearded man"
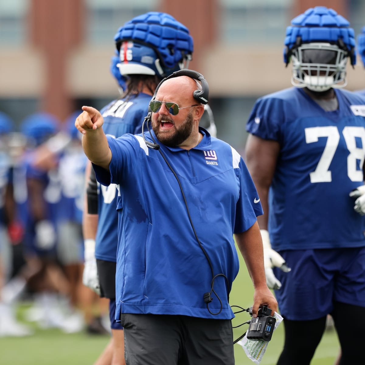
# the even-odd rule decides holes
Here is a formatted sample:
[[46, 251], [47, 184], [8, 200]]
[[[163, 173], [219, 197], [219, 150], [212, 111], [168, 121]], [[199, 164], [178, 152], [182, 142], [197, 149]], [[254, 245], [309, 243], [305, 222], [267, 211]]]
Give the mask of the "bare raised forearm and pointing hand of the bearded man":
[[83, 134], [82, 148], [85, 155], [93, 164], [109, 170], [112, 153], [101, 128], [104, 119], [95, 108], [84, 106], [82, 110], [83, 112], [76, 118], [75, 127]]

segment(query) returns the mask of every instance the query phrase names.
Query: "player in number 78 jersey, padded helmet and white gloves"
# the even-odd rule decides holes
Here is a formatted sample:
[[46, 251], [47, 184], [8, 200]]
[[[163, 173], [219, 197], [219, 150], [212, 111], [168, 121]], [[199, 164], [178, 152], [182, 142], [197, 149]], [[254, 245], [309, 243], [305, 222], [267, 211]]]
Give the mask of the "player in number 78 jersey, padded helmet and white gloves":
[[365, 320], [350, 318], [365, 308], [365, 220], [349, 193], [363, 183], [365, 112], [358, 106], [365, 99], [339, 89], [347, 61], [356, 62], [349, 25], [326, 7], [294, 18], [284, 62], [292, 62], [295, 87], [258, 99], [247, 123], [247, 166], [265, 212], [258, 222], [267, 280], [284, 317], [280, 365], [310, 364], [327, 314], [340, 364], [364, 361], [353, 339], [365, 340]]

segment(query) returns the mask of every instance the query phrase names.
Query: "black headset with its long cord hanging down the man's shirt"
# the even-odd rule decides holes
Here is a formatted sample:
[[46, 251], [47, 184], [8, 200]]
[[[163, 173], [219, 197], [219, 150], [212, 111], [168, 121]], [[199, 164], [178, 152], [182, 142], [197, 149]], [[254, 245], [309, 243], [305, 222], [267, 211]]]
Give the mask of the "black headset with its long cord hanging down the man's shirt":
[[[156, 95], [157, 95], [157, 91], [158, 89], [160, 88], [161, 84], [163, 84], [166, 80], [168, 80], [169, 78], [173, 78], [173, 77], [179, 77], [179, 76], [188, 76], [188, 77], [191, 77], [195, 80], [198, 80], [201, 82], [201, 90], [195, 90], [193, 92], [193, 96], [194, 98], [199, 101], [199, 103], [202, 103], [202, 104], [207, 104], [208, 103], [208, 96], [209, 96], [209, 86], [208, 86], [208, 82], [205, 80], [204, 76], [202, 74], [200, 74], [199, 72], [196, 72], [196, 71], [193, 71], [193, 70], [187, 70], [187, 69], [183, 69], [183, 70], [179, 70], [179, 71], [176, 71], [174, 73], [172, 73], [170, 76], [168, 77], [165, 77], [161, 82], [160, 84], [157, 85], [157, 88], [155, 90], [155, 93], [153, 94], [152, 96], [152, 99], [151, 100], [154, 100], [156, 98]], [[218, 277], [218, 276], [223, 276], [224, 280], [226, 281], [226, 285], [227, 285], [227, 298], [228, 298], [228, 302], [229, 302], [229, 282], [228, 282], [228, 278], [226, 277], [226, 275], [224, 275], [223, 273], [221, 274], [216, 274], [214, 275], [214, 270], [213, 270], [213, 266], [212, 266], [212, 263], [210, 261], [210, 258], [207, 254], [207, 252], [204, 250], [204, 247], [201, 245], [201, 242], [199, 240], [199, 237], [197, 236], [197, 233], [195, 231], [195, 227], [194, 227], [194, 224], [193, 224], [193, 221], [191, 219], [191, 215], [190, 215], [190, 212], [189, 212], [189, 208], [188, 208], [188, 202], [185, 198], [185, 193], [184, 193], [184, 190], [183, 190], [183, 187], [181, 186], [181, 183], [180, 183], [180, 180], [176, 174], [176, 172], [174, 171], [174, 169], [172, 168], [172, 166], [169, 164], [168, 160], [166, 159], [165, 155], [162, 153], [162, 151], [160, 150], [160, 145], [158, 145], [155, 141], [155, 139], [153, 138], [153, 135], [150, 131], [150, 128], [148, 126], [148, 123], [151, 121], [151, 116], [152, 116], [152, 110], [150, 107], [148, 107], [148, 114], [147, 116], [145, 117], [145, 119], [143, 120], [143, 124], [142, 124], [142, 136], [143, 136], [143, 139], [147, 145], [147, 147], [153, 149], [153, 150], [158, 150], [162, 156], [162, 158], [165, 160], [166, 164], [168, 165], [169, 169], [171, 170], [171, 172], [174, 174], [176, 180], [177, 180], [177, 183], [180, 187], [180, 191], [181, 191], [181, 194], [183, 195], [183, 199], [184, 199], [184, 203], [185, 203], [185, 207], [186, 207], [186, 210], [187, 210], [187, 213], [188, 213], [188, 217], [189, 217], [189, 222], [190, 222], [190, 225], [193, 229], [193, 232], [194, 232], [194, 235], [195, 235], [195, 238], [196, 238], [196, 241], [197, 243], [199, 244], [199, 247], [201, 248], [201, 250], [203, 251], [205, 257], [207, 258], [208, 260], [208, 264], [209, 264], [209, 267], [210, 267], [210, 270], [211, 270], [211, 273], [212, 273], [212, 281], [211, 281], [211, 289], [209, 292], [207, 293], [204, 293], [203, 295], [203, 299], [204, 299], [204, 302], [207, 304], [207, 310], [210, 314], [212, 315], [218, 315], [222, 309], [223, 309], [223, 304], [222, 304], [222, 300], [220, 300], [218, 294], [214, 291], [214, 280]], [[149, 142], [149, 141], [146, 141], [145, 139], [145, 134], [143, 132], [143, 127], [144, 127], [144, 124], [147, 124], [147, 129], [149, 131], [149, 134], [150, 134], [150, 137], [153, 141], [152, 142]], [[219, 303], [220, 303], [220, 310], [216, 313], [213, 313], [210, 311], [209, 309], [209, 303], [213, 300], [212, 298], [212, 293], [215, 294], [215, 296], [217, 297], [217, 299], [219, 300]]]

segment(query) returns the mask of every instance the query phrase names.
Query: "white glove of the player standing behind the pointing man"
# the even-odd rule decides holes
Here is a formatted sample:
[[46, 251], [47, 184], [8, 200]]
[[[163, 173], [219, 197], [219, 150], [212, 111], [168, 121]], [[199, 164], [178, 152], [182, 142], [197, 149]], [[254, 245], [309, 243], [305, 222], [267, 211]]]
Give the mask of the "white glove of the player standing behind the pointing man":
[[90, 288], [97, 295], [100, 295], [99, 275], [97, 273], [95, 258], [95, 239], [85, 239], [84, 241], [85, 266], [82, 273], [82, 284]]

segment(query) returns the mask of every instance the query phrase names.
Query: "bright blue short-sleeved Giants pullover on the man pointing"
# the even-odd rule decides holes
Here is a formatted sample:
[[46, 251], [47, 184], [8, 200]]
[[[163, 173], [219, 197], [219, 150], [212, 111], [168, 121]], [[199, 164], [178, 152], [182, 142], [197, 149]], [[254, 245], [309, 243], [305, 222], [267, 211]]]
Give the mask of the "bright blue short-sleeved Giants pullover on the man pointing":
[[[156, 137], [151, 131], [155, 140]], [[193, 233], [183, 196], [160, 151], [142, 135], [108, 137], [110, 174], [94, 166], [102, 184], [119, 184], [116, 319], [120, 313], [176, 314], [231, 319], [227, 290], [238, 273], [233, 233], [249, 229], [262, 214], [257, 191], [241, 156], [227, 143], [203, 139], [191, 150], [160, 145], [179, 177], [197, 237], [210, 258], [214, 290], [223, 303], [211, 315], [203, 300], [212, 273]], [[151, 142], [149, 134], [146, 139]], [[256, 201], [256, 203], [254, 203]], [[214, 296], [214, 294], [213, 294]], [[218, 299], [209, 304], [220, 309]]]

